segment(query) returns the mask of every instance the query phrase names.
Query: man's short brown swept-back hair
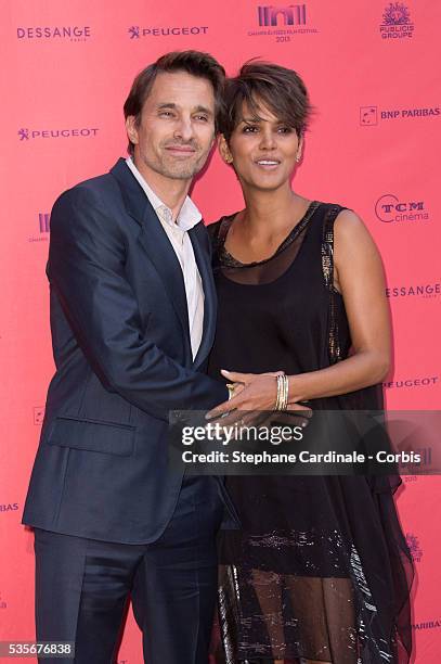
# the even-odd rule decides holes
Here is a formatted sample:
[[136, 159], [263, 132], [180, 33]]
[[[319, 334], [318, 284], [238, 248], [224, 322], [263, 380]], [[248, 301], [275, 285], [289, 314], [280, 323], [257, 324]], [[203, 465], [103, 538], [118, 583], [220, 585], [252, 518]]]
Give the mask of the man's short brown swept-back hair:
[[[164, 72], [187, 72], [192, 76], [206, 78], [210, 81], [215, 91], [215, 127], [216, 132], [219, 132], [222, 123], [221, 117], [224, 112], [225, 69], [212, 55], [202, 51], [173, 51], [166, 53], [140, 72], [132, 84], [129, 97], [124, 105], [125, 118], [127, 119], [129, 115], [133, 115], [138, 124], [141, 122], [141, 113], [145, 100], [152, 90], [157, 75]], [[129, 153], [133, 154], [133, 143], [129, 142]]]

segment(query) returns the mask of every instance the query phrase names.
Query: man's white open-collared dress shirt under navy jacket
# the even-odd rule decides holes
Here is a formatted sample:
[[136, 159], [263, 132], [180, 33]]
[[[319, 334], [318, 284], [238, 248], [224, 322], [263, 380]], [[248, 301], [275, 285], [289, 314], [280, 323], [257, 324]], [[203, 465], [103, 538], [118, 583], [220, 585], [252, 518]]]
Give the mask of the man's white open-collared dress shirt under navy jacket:
[[202, 214], [196, 205], [186, 196], [177, 220], [173, 221], [172, 212], [148, 187], [143, 176], [138, 170], [131, 157], [126, 159], [126, 164], [137, 178], [151, 202], [158, 219], [170, 241], [171, 246], [180, 263], [184, 278], [186, 294], [186, 306], [189, 311], [190, 341], [192, 344], [193, 359], [196, 357], [200, 346], [204, 329], [204, 289], [199, 270], [197, 269], [192, 241], [189, 237], [191, 230], [202, 219]]

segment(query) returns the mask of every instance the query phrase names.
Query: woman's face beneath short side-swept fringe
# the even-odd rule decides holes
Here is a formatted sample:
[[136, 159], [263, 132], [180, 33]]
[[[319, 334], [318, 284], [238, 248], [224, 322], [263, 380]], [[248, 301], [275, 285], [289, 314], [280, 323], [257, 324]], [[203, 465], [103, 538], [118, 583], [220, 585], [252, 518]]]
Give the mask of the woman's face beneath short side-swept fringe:
[[241, 182], [260, 190], [275, 190], [290, 180], [300, 159], [302, 140], [264, 106], [256, 118], [246, 104], [230, 143], [221, 138], [223, 159], [232, 164]]

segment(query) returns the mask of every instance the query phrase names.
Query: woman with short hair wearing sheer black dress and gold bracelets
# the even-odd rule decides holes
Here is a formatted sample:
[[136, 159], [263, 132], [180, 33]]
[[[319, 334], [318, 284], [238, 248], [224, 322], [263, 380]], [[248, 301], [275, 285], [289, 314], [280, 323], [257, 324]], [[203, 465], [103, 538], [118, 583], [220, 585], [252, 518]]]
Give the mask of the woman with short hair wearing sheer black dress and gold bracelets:
[[[217, 416], [273, 410], [280, 370], [290, 410], [382, 407], [390, 323], [376, 246], [353, 212], [291, 189], [309, 113], [290, 69], [251, 62], [229, 82], [220, 150], [246, 206], [209, 227], [219, 297], [210, 372], [235, 384]], [[408, 662], [399, 482], [228, 477], [243, 524], [220, 548], [229, 664]]]

